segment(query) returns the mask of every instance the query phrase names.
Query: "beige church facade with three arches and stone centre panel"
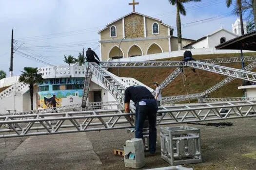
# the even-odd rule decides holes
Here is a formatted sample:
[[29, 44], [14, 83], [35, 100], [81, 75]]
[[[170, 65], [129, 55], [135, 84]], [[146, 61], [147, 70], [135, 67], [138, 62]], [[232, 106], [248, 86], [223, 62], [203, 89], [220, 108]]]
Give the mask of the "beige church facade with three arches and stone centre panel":
[[[177, 51], [171, 26], [137, 12], [109, 23], [98, 34], [102, 61]], [[183, 46], [191, 42], [182, 39]]]

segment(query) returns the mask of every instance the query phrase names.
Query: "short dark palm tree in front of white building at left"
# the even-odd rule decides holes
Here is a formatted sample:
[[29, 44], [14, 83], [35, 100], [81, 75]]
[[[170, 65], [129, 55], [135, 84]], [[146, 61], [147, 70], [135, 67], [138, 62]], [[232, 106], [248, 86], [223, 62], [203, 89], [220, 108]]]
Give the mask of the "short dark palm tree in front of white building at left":
[[38, 68], [24, 67], [24, 71], [21, 71], [19, 82], [24, 85], [29, 85], [31, 110], [33, 110], [33, 94], [34, 85], [43, 82], [42, 74], [38, 73]]

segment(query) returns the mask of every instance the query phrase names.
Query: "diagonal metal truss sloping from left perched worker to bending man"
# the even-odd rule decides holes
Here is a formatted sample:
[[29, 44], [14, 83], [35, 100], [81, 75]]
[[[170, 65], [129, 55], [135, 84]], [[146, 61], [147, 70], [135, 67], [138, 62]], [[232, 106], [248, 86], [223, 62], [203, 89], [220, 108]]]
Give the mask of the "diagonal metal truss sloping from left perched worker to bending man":
[[[112, 77], [107, 70], [99, 67], [96, 63], [88, 62], [88, 66], [98, 80], [106, 87], [108, 92], [110, 92], [120, 106], [124, 108], [124, 91], [126, 88]], [[131, 103], [130, 107], [135, 111], [134, 104]]]

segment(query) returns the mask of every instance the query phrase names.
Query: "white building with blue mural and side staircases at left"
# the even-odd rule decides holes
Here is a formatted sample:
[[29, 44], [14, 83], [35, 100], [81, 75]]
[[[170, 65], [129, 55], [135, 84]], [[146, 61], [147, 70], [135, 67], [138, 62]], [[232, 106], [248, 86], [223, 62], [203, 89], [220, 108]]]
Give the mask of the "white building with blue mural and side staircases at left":
[[[82, 102], [83, 84], [87, 66], [78, 63], [71, 66], [39, 68], [44, 82], [34, 87], [34, 109], [49, 108], [49, 101], [56, 95], [57, 106], [80, 104]], [[125, 87], [143, 85], [133, 78], [120, 78], [112, 73], [115, 79]], [[0, 80], [0, 113], [24, 112], [31, 110], [28, 85], [19, 81], [19, 76]], [[2, 88], [5, 87], [5, 88]], [[149, 90], [153, 91], [150, 87]], [[114, 102], [115, 98], [94, 75], [92, 76], [87, 102]]]

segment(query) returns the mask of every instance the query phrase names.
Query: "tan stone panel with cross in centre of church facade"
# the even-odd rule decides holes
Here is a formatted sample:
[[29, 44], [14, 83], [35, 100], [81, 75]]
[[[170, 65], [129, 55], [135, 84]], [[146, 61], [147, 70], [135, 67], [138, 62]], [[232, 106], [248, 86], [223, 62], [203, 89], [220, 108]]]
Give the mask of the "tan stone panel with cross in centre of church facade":
[[144, 37], [143, 16], [132, 14], [124, 18], [125, 38]]

